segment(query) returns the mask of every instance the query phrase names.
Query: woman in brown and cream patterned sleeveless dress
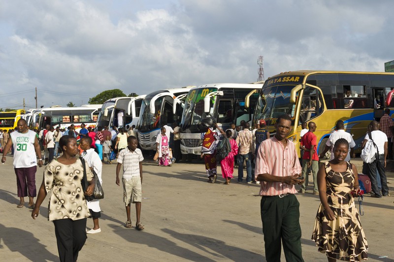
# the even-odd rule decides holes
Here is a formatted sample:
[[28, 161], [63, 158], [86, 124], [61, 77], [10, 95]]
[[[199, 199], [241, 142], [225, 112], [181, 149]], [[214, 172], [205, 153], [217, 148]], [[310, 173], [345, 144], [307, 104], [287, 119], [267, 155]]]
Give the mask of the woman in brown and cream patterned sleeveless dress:
[[321, 204], [312, 240], [320, 252], [326, 252], [328, 262], [368, 258], [368, 244], [353, 197], [360, 189], [357, 168], [345, 161], [348, 150], [346, 139], [336, 140], [334, 159], [321, 165], [317, 175]]

